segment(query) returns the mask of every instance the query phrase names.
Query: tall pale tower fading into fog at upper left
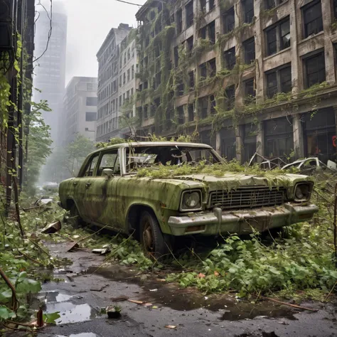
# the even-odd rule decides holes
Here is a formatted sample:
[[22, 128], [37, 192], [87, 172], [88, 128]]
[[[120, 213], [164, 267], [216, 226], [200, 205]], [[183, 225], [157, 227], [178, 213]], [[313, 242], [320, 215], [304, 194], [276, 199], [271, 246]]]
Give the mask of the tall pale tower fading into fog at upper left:
[[[33, 85], [41, 92], [33, 93], [33, 100], [47, 100], [51, 112], [43, 112], [46, 124], [50, 125], [51, 137], [58, 144], [59, 114], [62, 112], [63, 95], [65, 92], [65, 51], [67, 43], [67, 16], [62, 8], [55, 7], [51, 18], [50, 13], [40, 11], [36, 21], [35, 58], [36, 61]], [[49, 36], [50, 35], [50, 36]], [[47, 48], [48, 47], [48, 48]], [[47, 48], [47, 50], [46, 50]], [[46, 50], [46, 51], [45, 51]]]

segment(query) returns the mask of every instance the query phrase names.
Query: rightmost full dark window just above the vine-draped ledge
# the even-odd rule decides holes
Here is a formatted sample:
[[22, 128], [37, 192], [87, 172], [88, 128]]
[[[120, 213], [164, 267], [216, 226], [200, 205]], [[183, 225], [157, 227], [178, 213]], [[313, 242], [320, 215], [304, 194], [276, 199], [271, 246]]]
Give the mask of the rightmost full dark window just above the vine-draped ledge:
[[304, 68], [306, 74], [306, 87], [311, 87], [316, 83], [326, 80], [326, 63], [324, 52], [315, 54], [304, 59]]

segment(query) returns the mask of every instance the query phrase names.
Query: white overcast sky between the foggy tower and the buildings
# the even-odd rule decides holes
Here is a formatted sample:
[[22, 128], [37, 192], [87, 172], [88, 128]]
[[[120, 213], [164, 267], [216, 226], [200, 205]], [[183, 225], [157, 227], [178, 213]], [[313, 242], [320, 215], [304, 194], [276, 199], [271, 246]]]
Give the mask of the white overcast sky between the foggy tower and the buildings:
[[[50, 5], [48, 0], [41, 1]], [[144, 4], [146, 0], [129, 0], [134, 4]], [[135, 14], [139, 6], [123, 4], [117, 0], [53, 0], [55, 11], [63, 5], [68, 16], [67, 40], [67, 85], [73, 76], [97, 77], [96, 53], [111, 28], [119, 23], [129, 23], [136, 28]], [[41, 11], [41, 7], [36, 7]]]

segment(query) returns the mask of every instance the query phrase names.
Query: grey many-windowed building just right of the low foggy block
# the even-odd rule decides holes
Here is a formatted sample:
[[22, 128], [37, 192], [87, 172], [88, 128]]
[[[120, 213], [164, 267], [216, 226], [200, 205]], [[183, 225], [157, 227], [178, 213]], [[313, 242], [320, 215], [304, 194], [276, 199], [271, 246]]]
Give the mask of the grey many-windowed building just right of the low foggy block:
[[121, 137], [118, 131], [119, 116], [119, 55], [120, 43], [132, 28], [120, 23], [112, 28], [97, 53], [98, 103], [96, 141], [108, 141]]

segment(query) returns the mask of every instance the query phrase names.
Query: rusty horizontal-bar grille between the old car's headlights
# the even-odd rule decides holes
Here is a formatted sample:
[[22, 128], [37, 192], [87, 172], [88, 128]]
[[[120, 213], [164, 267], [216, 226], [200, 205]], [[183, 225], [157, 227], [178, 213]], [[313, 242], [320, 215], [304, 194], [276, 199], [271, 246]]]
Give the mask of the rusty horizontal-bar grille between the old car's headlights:
[[237, 188], [230, 192], [213, 191], [210, 193], [210, 208], [219, 207], [223, 210], [259, 208], [276, 206], [284, 203], [285, 188]]

